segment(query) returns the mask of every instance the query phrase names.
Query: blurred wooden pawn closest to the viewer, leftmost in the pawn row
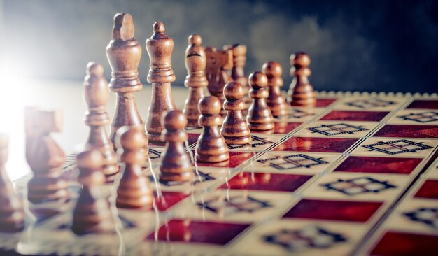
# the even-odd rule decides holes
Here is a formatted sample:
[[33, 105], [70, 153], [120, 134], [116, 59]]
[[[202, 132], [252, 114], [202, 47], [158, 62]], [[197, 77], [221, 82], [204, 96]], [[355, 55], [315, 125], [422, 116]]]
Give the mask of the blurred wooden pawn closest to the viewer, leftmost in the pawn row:
[[105, 183], [104, 158], [98, 150], [81, 152], [76, 162], [83, 185], [73, 210], [71, 230], [78, 235], [114, 232], [115, 222], [108, 199], [101, 193]]

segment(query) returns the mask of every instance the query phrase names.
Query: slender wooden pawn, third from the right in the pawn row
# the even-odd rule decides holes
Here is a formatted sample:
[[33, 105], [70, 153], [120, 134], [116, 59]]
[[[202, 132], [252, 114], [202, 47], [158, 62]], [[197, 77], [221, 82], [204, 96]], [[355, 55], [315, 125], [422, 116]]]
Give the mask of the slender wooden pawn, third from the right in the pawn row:
[[268, 78], [264, 73], [256, 71], [250, 74], [248, 80], [251, 86], [250, 97], [253, 99], [246, 115], [248, 127], [251, 131], [271, 131], [274, 129], [274, 118], [266, 103], [269, 94], [266, 88]]

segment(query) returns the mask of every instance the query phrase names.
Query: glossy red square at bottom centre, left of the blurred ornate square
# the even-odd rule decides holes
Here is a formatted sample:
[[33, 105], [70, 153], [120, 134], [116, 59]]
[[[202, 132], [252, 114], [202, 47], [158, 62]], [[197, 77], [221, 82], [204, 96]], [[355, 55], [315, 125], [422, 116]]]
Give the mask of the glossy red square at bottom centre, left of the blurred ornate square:
[[[160, 241], [213, 243], [223, 246], [247, 227], [248, 224], [174, 219], [162, 225], [156, 237]], [[146, 239], [155, 241], [155, 232], [146, 236]]]

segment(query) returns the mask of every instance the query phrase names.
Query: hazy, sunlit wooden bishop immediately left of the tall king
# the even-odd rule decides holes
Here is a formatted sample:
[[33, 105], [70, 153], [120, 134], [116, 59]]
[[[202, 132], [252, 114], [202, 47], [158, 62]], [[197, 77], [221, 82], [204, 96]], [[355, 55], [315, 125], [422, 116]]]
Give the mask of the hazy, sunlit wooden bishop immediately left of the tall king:
[[85, 113], [85, 125], [90, 127], [85, 148], [99, 150], [104, 156], [104, 174], [107, 182], [112, 182], [118, 173], [117, 156], [114, 145], [106, 134], [110, 119], [106, 112], [108, 102], [108, 83], [104, 78], [104, 67], [96, 62], [87, 64], [87, 76], [84, 78], [85, 101], [88, 111]]

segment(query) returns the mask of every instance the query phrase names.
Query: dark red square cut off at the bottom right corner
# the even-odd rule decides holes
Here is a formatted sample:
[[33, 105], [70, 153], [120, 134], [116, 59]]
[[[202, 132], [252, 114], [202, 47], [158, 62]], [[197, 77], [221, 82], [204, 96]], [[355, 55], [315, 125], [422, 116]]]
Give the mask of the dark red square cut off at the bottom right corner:
[[438, 236], [386, 232], [370, 255], [438, 255]]

